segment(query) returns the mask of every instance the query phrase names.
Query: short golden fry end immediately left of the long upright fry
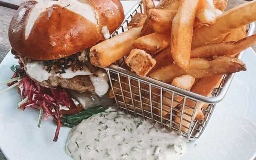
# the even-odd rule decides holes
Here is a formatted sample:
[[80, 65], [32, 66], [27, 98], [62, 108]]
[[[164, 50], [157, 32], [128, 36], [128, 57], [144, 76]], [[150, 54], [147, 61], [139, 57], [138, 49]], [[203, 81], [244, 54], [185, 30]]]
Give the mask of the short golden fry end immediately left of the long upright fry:
[[155, 32], [169, 33], [171, 30], [172, 20], [178, 10], [150, 9], [148, 21]]

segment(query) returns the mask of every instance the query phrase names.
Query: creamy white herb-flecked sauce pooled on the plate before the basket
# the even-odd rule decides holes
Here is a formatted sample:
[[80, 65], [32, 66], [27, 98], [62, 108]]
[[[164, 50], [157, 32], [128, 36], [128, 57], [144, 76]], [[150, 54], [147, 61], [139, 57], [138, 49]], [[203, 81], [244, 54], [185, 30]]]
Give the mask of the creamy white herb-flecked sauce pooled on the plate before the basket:
[[74, 160], [176, 160], [185, 151], [182, 137], [114, 109], [82, 121], [66, 143]]

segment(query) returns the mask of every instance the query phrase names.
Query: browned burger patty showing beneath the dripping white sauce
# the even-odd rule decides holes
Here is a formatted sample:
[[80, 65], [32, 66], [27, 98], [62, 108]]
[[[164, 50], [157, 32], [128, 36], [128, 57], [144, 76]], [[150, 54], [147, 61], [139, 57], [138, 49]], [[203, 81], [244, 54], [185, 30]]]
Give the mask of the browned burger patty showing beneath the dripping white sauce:
[[54, 88], [60, 86], [62, 88], [75, 90], [78, 92], [90, 92], [95, 94], [94, 86], [88, 76], [75, 76], [71, 79], [50, 76], [48, 80], [39, 82], [41, 86]]

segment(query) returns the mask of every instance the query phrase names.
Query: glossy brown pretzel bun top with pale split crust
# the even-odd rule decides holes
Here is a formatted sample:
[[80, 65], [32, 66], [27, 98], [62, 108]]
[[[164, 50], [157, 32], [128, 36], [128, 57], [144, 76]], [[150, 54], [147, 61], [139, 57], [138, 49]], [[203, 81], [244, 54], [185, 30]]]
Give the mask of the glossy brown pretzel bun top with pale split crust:
[[59, 59], [104, 40], [123, 19], [119, 0], [30, 0], [12, 18], [9, 40], [21, 56]]

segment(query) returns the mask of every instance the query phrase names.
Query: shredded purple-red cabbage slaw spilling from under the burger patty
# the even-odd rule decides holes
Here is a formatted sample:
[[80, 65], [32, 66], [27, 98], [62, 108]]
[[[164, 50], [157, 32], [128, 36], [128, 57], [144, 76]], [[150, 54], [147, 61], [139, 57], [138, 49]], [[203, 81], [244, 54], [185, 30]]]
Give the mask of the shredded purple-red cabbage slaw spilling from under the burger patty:
[[[12, 78], [18, 77], [17, 72], [14, 73]], [[34, 82], [28, 76], [23, 76], [18, 84], [21, 91], [21, 102], [18, 104], [21, 110], [25, 110], [26, 107], [31, 107], [37, 110], [43, 109], [43, 119], [47, 120], [49, 116], [54, 118], [57, 122], [57, 128], [53, 141], [58, 140], [59, 130], [61, 126], [60, 121], [60, 105], [66, 106], [70, 111], [77, 110], [77, 107], [66, 92], [65, 89], [57, 88], [46, 88], [40, 86], [39, 83]], [[12, 85], [12, 84], [8, 84]]]

